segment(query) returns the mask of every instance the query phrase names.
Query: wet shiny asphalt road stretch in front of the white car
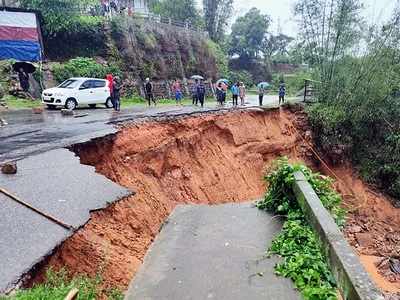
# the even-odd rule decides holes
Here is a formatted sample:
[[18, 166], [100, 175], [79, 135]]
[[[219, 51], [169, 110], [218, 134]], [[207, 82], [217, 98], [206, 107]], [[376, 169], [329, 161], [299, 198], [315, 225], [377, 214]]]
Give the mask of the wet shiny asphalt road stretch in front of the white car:
[[[265, 96], [264, 105], [277, 105], [276, 96]], [[249, 95], [246, 106], [257, 106], [258, 96]], [[225, 109], [231, 107], [228, 99]], [[158, 106], [157, 108], [138, 105], [116, 113], [111, 109], [77, 109], [75, 116], [62, 116], [60, 110], [45, 110], [33, 114], [31, 110], [0, 112], [0, 118], [8, 125], [0, 127], [0, 163], [18, 160], [29, 155], [66, 147], [71, 144], [115, 133], [116, 123], [142, 118], [177, 116], [207, 112], [216, 109], [209, 102], [204, 109], [196, 106]]]

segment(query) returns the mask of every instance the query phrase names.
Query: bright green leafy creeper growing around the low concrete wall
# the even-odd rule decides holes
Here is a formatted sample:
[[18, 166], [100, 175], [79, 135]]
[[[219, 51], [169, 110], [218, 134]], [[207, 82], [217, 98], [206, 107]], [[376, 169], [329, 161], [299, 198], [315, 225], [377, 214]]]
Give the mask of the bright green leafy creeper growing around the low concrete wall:
[[336, 283], [325, 253], [292, 190], [296, 171], [303, 172], [337, 224], [344, 224], [341, 198], [332, 189], [332, 180], [304, 165], [291, 165], [286, 158], [279, 159], [265, 177], [268, 183], [265, 199], [257, 203], [260, 209], [286, 217], [282, 232], [272, 242], [269, 253], [283, 258], [283, 262], [275, 266], [276, 273], [291, 278], [304, 299], [333, 300], [337, 298]]

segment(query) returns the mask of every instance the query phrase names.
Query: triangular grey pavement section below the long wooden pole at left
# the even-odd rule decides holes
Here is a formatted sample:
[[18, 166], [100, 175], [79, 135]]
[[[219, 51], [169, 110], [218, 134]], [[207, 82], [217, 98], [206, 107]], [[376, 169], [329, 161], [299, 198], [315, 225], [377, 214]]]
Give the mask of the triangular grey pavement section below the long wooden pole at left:
[[0, 294], [71, 233], [0, 194]]

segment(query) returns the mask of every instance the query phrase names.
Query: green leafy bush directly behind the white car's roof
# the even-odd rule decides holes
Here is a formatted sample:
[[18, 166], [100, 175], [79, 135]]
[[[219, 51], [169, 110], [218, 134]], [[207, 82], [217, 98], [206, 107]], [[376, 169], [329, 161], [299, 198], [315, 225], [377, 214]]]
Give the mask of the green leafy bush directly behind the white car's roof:
[[53, 73], [58, 82], [70, 77], [105, 78], [110, 73], [121, 76], [121, 70], [117, 66], [101, 65], [94, 59], [85, 57], [78, 57], [65, 64], [56, 65], [53, 67]]

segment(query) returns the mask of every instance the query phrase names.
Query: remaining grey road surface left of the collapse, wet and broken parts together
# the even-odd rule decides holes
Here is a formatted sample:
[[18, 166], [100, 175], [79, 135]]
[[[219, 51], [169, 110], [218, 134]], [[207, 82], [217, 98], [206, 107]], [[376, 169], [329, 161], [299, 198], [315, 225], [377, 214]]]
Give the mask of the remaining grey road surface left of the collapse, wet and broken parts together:
[[[216, 111], [209, 108], [201, 112]], [[199, 110], [192, 107], [164, 107], [118, 115], [102, 110], [79, 119], [63, 118], [58, 112], [45, 115], [18, 112], [9, 117], [9, 125], [0, 132], [1, 159], [20, 160], [16, 175], [0, 175], [0, 205], [4, 215], [0, 222], [4, 237], [0, 247], [0, 292], [23, 285], [29, 278], [25, 275], [86, 224], [90, 212], [133, 194], [132, 189], [123, 188], [96, 174], [93, 167], [80, 164], [79, 158], [64, 146], [108, 136], [118, 131], [114, 124], [132, 119], [143, 121], [197, 113]], [[27, 115], [31, 119], [27, 120]]]

